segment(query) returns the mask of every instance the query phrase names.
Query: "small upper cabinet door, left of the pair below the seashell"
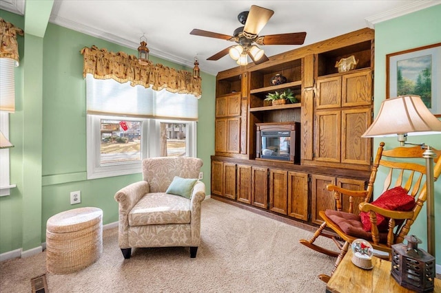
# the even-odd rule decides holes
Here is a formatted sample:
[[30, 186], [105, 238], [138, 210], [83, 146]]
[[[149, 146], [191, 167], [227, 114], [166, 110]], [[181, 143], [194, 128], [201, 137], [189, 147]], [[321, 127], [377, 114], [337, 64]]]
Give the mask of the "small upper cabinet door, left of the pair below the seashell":
[[334, 76], [317, 80], [316, 109], [341, 107], [342, 77]]

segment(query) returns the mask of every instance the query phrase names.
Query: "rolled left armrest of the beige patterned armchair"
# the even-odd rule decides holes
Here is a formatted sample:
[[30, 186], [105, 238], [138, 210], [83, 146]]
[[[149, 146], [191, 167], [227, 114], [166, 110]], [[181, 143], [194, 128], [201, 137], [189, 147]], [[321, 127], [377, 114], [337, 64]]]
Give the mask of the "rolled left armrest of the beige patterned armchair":
[[135, 206], [139, 199], [146, 193], [149, 193], [150, 187], [147, 181], [139, 181], [121, 188], [115, 193], [115, 200], [119, 203], [120, 214], [121, 211], [130, 213], [130, 210]]

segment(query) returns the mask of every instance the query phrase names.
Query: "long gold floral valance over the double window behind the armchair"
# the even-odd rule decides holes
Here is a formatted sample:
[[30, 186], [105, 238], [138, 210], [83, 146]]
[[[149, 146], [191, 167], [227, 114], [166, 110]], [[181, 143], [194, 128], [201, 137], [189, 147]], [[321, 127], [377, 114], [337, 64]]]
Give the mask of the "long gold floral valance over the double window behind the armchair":
[[201, 78], [193, 78], [192, 72], [176, 70], [161, 64], [141, 65], [138, 58], [125, 52], [109, 52], [106, 49], [84, 47], [83, 77], [93, 74], [96, 79], [112, 78], [132, 86], [143, 85], [155, 91], [167, 89], [172, 93], [192, 94], [201, 98]]

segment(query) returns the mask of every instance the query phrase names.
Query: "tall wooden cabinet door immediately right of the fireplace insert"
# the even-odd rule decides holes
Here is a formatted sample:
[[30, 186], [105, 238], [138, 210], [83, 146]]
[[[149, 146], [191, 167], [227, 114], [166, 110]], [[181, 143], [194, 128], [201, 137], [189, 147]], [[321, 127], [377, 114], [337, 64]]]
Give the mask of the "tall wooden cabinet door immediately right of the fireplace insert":
[[315, 159], [321, 162], [340, 162], [341, 111], [317, 111], [315, 127]]

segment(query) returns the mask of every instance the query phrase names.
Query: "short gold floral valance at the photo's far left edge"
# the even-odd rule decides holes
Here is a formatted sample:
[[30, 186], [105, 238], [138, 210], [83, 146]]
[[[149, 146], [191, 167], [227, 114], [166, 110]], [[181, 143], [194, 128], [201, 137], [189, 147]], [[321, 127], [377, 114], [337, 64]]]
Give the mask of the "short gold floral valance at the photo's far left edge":
[[19, 64], [19, 44], [17, 43], [17, 34], [24, 35], [21, 28], [17, 28], [12, 23], [5, 21], [0, 17], [0, 58], [11, 58]]

